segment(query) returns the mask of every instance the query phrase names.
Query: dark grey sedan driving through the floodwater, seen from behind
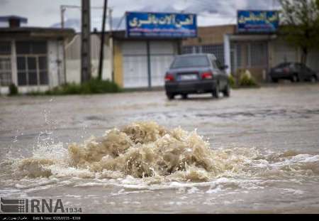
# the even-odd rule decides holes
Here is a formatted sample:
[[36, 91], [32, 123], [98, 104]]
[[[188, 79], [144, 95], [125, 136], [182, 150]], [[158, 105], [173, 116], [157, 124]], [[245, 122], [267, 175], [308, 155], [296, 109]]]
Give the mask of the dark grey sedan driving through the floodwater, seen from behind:
[[212, 93], [218, 98], [223, 92], [230, 96], [228, 75], [213, 54], [178, 55], [165, 75], [165, 90], [169, 99], [181, 95]]

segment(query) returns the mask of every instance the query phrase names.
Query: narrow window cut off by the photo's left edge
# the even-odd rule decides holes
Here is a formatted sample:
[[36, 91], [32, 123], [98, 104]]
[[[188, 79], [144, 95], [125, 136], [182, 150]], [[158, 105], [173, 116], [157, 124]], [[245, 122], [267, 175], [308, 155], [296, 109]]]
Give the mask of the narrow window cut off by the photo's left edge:
[[0, 86], [9, 86], [11, 79], [11, 42], [0, 42]]

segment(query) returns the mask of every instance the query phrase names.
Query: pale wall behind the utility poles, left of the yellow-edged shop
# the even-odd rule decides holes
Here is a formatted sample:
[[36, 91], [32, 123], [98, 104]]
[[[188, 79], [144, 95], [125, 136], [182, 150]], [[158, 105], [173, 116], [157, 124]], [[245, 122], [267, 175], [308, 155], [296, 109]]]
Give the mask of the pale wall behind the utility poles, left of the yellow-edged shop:
[[[101, 40], [99, 36], [91, 34], [91, 75], [97, 77], [99, 75], [99, 55]], [[67, 82], [81, 81], [81, 35], [77, 34], [74, 39], [66, 44], [66, 72]], [[111, 80], [111, 50], [108, 45], [104, 44], [104, 59], [102, 79]]]

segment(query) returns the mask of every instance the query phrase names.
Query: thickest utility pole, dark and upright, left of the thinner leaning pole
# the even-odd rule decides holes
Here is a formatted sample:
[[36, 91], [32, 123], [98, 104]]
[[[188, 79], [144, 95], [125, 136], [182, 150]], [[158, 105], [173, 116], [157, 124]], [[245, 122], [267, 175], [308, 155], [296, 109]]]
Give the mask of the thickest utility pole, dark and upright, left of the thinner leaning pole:
[[82, 0], [81, 82], [91, 78], [91, 17], [90, 0]]

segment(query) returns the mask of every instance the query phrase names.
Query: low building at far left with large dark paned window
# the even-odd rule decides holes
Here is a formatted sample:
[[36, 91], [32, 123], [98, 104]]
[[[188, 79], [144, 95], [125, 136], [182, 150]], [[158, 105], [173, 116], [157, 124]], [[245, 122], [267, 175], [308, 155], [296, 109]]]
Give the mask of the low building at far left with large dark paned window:
[[66, 82], [63, 44], [73, 38], [73, 29], [21, 26], [27, 21], [0, 16], [0, 94], [7, 94], [11, 83], [26, 93]]

